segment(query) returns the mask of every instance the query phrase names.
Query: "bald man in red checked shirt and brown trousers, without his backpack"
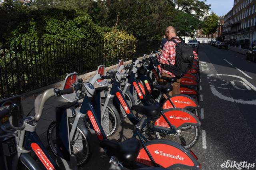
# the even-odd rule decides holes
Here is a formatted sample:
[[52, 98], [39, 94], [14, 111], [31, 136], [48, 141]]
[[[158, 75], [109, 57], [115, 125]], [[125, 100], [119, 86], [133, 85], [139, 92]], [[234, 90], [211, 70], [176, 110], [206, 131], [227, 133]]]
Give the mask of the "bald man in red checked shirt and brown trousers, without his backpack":
[[[174, 27], [172, 26], [168, 26], [165, 30], [164, 30], [164, 34], [168, 40], [167, 43], [164, 44], [163, 50], [161, 55], [158, 56], [158, 62], [161, 64], [162, 70], [161, 70], [161, 77], [162, 76], [166, 76], [166, 77], [175, 77], [175, 75], [173, 75], [172, 73], [170, 73], [169, 71], [166, 71], [164, 69], [164, 64], [168, 64], [168, 65], [174, 65], [175, 64], [175, 55], [176, 55], [176, 51], [175, 51], [175, 47], [176, 44], [171, 40], [171, 38], [175, 37], [180, 39], [179, 37], [176, 37], [176, 30]], [[176, 42], [180, 42], [179, 40], [174, 39], [174, 41]], [[169, 64], [169, 62], [170, 64]], [[172, 84], [173, 90], [170, 91], [169, 95], [176, 95], [176, 94], [180, 94], [180, 77], [177, 77], [177, 81], [174, 82]], [[164, 79], [160, 78], [160, 85], [166, 85], [166, 81]], [[164, 95], [164, 98], [167, 99], [167, 96]]]

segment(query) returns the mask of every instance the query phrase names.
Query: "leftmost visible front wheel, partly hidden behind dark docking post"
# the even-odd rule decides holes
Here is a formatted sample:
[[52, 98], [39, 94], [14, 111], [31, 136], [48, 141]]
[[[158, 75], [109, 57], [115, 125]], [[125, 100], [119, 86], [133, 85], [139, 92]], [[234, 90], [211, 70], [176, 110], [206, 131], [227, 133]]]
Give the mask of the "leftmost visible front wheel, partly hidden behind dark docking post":
[[[72, 124], [70, 123], [72, 127]], [[92, 136], [89, 136], [89, 132], [84, 134], [80, 128], [76, 127], [74, 136], [77, 138], [71, 141], [71, 152], [76, 156], [77, 164], [83, 165], [90, 160], [94, 149]], [[56, 122], [52, 122], [47, 130], [47, 141], [50, 149], [57, 155], [56, 152]]]

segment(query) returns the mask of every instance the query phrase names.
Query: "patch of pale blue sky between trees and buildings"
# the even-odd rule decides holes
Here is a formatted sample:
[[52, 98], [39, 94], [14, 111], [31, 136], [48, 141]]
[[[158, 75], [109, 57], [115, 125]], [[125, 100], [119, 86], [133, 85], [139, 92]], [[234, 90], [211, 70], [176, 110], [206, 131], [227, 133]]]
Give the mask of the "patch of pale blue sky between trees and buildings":
[[211, 4], [210, 14], [214, 12], [218, 16], [224, 16], [233, 8], [234, 0], [206, 0], [204, 3]]

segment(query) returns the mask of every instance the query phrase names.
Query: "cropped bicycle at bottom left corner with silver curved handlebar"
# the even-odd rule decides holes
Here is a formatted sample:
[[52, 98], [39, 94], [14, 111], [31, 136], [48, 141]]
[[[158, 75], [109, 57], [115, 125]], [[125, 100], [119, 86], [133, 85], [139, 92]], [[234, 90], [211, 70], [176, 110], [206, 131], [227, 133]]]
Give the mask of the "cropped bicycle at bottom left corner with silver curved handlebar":
[[[16, 170], [17, 167], [19, 169], [40, 170], [41, 167], [30, 156], [31, 150], [34, 151], [47, 170], [77, 169], [76, 158], [71, 154], [71, 148], [66, 148], [62, 145], [62, 142], [69, 141], [68, 135], [66, 134], [67, 128], [60, 130], [60, 133], [64, 135], [62, 135], [62, 140], [58, 140], [56, 145], [58, 150], [56, 162], [36, 134], [37, 121], [42, 116], [44, 104], [47, 99], [52, 96], [61, 96], [68, 93], [73, 93], [73, 89], [46, 90], [43, 95], [36, 97], [35, 116], [25, 118], [22, 117], [23, 108], [20, 96], [14, 96], [0, 101], [0, 119], [4, 118], [6, 120], [1, 126], [4, 134], [0, 135], [1, 145], [4, 146], [3, 157], [4, 168], [6, 170]], [[62, 126], [61, 123], [59, 125]]]

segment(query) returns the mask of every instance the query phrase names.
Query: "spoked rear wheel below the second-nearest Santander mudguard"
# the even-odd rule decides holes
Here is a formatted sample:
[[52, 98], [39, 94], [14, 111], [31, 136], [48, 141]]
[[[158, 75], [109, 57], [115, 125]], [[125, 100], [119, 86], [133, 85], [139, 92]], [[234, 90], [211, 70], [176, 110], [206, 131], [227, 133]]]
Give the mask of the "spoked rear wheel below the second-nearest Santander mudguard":
[[158, 139], [166, 139], [174, 141], [185, 148], [192, 148], [200, 137], [200, 127], [198, 126], [184, 126], [177, 130], [178, 134], [166, 134], [155, 132]]

